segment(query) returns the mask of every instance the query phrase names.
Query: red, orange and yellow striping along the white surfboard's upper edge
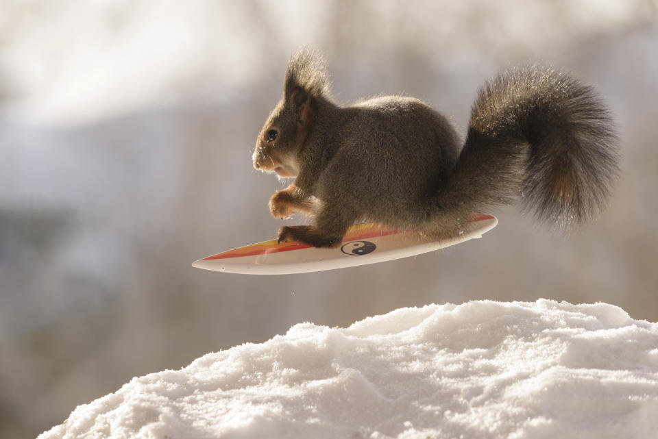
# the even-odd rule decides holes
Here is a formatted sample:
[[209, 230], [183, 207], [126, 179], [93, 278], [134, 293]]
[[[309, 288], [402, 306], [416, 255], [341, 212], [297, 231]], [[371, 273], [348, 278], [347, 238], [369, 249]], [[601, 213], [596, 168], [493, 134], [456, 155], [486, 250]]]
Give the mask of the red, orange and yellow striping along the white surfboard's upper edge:
[[[476, 214], [472, 216], [471, 221], [486, 221], [491, 220], [494, 217], [486, 214]], [[404, 234], [406, 231], [397, 230], [397, 229], [385, 229], [384, 227], [376, 227], [374, 230], [369, 231], [368, 233], [358, 233], [359, 226], [363, 227], [365, 225], [356, 225], [357, 230], [349, 232], [343, 238], [343, 242], [358, 241], [367, 238], [374, 238], [376, 236], [389, 236], [393, 234]], [[367, 226], [366, 226], [367, 228]], [[254, 248], [256, 247], [256, 248]], [[266, 255], [269, 253], [280, 253], [282, 251], [292, 251], [292, 250], [301, 250], [301, 249], [310, 249], [310, 245], [302, 244], [300, 242], [284, 242], [283, 244], [278, 244], [276, 240], [260, 242], [258, 244], [248, 245], [247, 247], [240, 247], [239, 249], [233, 249], [219, 253], [217, 255], [208, 256], [208, 258], [202, 259], [202, 261], [208, 260], [218, 260], [218, 259], [229, 259], [229, 258], [243, 258], [245, 256], [256, 256], [256, 255]], [[250, 250], [247, 250], [250, 249]], [[242, 251], [241, 251], [242, 250]]]

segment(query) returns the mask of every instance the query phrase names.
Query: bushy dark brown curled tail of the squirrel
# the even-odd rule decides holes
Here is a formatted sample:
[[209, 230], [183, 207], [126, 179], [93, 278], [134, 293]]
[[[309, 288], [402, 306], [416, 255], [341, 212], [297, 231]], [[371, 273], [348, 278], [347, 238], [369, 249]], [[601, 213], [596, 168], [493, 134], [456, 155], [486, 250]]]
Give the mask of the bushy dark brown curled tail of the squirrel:
[[502, 73], [478, 92], [459, 161], [437, 194], [439, 223], [520, 197], [541, 220], [577, 226], [605, 205], [617, 142], [591, 87], [546, 68]]

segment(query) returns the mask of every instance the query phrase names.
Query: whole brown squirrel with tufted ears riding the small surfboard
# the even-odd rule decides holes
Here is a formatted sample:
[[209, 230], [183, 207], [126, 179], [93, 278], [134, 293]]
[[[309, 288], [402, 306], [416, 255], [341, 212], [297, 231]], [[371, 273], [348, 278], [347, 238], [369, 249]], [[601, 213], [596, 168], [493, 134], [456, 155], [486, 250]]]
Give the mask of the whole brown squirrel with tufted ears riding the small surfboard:
[[279, 242], [337, 247], [358, 221], [450, 237], [473, 214], [520, 199], [566, 230], [605, 205], [618, 175], [618, 137], [594, 90], [548, 67], [500, 73], [472, 105], [466, 140], [413, 97], [334, 102], [324, 58], [298, 49], [283, 97], [258, 134], [254, 168], [293, 184], [271, 214], [314, 225], [282, 227]]

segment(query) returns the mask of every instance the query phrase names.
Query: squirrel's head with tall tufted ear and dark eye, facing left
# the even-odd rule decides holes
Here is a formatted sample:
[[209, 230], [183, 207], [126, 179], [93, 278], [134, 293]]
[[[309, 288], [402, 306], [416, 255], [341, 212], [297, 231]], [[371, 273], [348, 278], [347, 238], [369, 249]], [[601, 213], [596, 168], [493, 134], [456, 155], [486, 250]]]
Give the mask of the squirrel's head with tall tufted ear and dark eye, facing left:
[[302, 47], [288, 63], [283, 97], [269, 114], [256, 139], [254, 168], [296, 177], [300, 149], [308, 136], [320, 100], [329, 99], [329, 78], [324, 59]]

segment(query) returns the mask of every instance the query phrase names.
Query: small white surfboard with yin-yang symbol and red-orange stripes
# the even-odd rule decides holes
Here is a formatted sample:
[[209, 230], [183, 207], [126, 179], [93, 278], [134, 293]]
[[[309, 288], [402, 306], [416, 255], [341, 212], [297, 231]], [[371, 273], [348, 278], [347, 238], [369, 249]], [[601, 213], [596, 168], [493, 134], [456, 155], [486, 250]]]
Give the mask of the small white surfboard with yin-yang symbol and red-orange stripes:
[[341, 247], [316, 249], [300, 242], [278, 243], [276, 239], [208, 256], [192, 266], [223, 273], [287, 275], [332, 270], [407, 258], [443, 249], [482, 234], [498, 224], [495, 216], [474, 215], [459, 235], [444, 240], [423, 238], [411, 231], [386, 228], [378, 223], [350, 227]]

